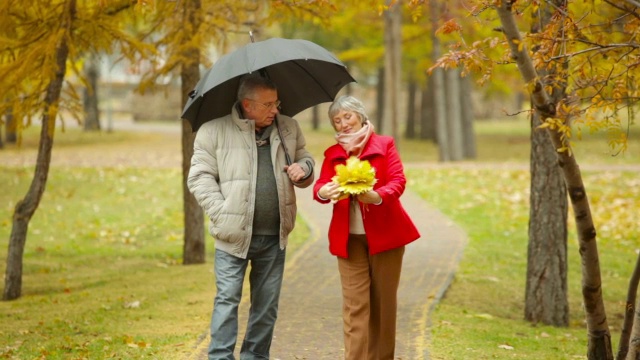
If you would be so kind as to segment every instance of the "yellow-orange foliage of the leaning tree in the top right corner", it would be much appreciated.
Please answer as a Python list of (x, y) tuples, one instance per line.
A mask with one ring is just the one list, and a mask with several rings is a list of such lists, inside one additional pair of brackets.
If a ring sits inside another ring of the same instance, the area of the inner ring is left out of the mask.
[[(539, 89), (538, 84), (542, 85), (556, 102), (552, 105), (565, 105), (564, 108), (556, 106), (558, 117), (563, 117), (565, 122), (570, 119), (586, 124), (594, 131), (606, 129), (610, 144), (624, 150), (626, 139), (622, 136), (621, 119), (633, 121), (634, 112), (626, 109), (633, 109), (640, 102), (640, 89), (636, 85), (640, 78), (637, 66), (640, 19), (633, 13), (633, 7), (617, 7), (603, 1), (568, 2), (566, 8), (541, 1), (512, 3), (511, 11), (519, 21), (522, 40), (512, 40), (511, 44), (493, 42), (492, 46), (480, 46), (483, 41), (477, 38), (471, 45), (460, 41), (451, 45), (450, 52), (441, 56), (429, 71), (436, 66), (463, 66), (469, 73), (479, 74), (478, 82), (482, 85), (495, 82), (494, 64), (512, 64), (528, 55), (541, 79), (527, 83), (530, 93)], [(502, 1), (474, 4), (466, 15), (476, 26), (455, 29), (461, 36), (474, 36), (483, 28), (504, 31), (499, 21), (496, 24), (495, 12), (490, 11), (502, 6)], [(455, 21), (454, 16), (450, 22)], [(514, 34), (509, 34), (512, 36)], [(526, 49), (529, 51), (523, 54)], [(529, 78), (531, 74), (527, 75), (527, 80)], [(625, 116), (618, 114), (625, 111)], [(549, 122), (544, 126), (564, 131), (566, 139), (571, 136), (559, 123)]]

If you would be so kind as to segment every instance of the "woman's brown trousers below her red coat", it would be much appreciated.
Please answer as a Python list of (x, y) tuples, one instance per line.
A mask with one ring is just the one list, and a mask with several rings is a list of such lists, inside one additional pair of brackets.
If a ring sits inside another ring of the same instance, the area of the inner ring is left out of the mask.
[(349, 235), (338, 258), (346, 360), (393, 360), (398, 284), (404, 246), (369, 255), (366, 235)]

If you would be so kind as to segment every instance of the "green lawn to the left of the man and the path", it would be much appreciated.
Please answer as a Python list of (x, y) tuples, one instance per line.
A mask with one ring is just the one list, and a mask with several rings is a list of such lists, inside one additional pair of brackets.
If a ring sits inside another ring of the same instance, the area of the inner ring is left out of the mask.
[[(30, 168), (0, 168), (0, 267)], [(22, 297), (0, 302), (0, 358), (181, 358), (208, 328), (207, 263), (181, 266), (179, 169), (53, 168), (24, 254)], [(290, 251), (309, 236), (303, 225)]]

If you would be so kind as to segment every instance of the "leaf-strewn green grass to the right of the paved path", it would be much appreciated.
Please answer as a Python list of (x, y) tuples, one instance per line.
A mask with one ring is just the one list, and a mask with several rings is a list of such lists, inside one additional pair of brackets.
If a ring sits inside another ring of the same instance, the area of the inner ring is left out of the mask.
[[(409, 170), (410, 187), (451, 217), (469, 237), (458, 273), (431, 319), (434, 359), (584, 359), (587, 334), (580, 256), (569, 235), (570, 327), (523, 321), (527, 259), (525, 170)], [(617, 346), (627, 282), (640, 245), (637, 173), (587, 172), (598, 229), (603, 293)], [(428, 235), (427, 235), (428, 240)], [(512, 350), (500, 346), (513, 347)]]

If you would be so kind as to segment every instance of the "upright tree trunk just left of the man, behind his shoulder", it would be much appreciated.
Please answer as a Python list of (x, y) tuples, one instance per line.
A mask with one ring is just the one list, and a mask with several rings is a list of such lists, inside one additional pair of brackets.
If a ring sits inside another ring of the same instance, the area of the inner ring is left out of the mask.
[[(195, 34), (200, 26), (200, 0), (185, 1), (184, 3), (185, 31)], [(180, 71), (182, 107), (189, 99), (189, 93), (196, 87), (200, 78), (200, 50), (190, 47), (185, 50), (184, 58), (188, 59)], [(184, 247), (182, 263), (202, 264), (206, 261), (204, 212), (195, 197), (187, 187), (187, 177), (193, 156), (193, 141), (195, 133), (187, 120), (182, 120), (182, 200), (184, 207)]]

